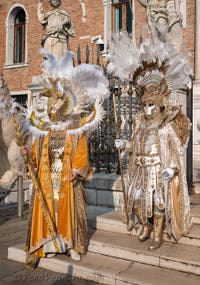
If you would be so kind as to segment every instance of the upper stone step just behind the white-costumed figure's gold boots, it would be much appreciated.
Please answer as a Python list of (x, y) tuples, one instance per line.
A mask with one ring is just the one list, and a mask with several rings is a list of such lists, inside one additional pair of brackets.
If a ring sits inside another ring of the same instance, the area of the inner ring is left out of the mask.
[[(198, 206), (198, 210), (199, 209), (200, 206)], [(132, 236), (138, 236), (141, 231), (141, 228), (138, 228), (137, 230), (133, 229), (131, 232), (127, 232), (127, 226), (122, 223), (119, 211), (110, 211), (96, 217), (93, 216), (92, 226), (98, 230), (129, 234)], [(151, 238), (152, 235), (153, 232), (151, 234)], [(164, 240), (175, 243), (174, 239), (169, 239), (166, 233), (164, 233)], [(179, 244), (200, 247), (200, 225), (194, 223), (190, 233), (187, 236), (181, 237), (178, 242)]]

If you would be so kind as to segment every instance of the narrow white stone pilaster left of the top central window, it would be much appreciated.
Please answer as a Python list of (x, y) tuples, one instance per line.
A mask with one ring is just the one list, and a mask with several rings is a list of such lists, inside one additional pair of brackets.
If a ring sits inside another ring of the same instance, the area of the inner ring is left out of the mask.
[(112, 34), (112, 1), (103, 0), (104, 5), (104, 51), (108, 48), (108, 42), (111, 40)]

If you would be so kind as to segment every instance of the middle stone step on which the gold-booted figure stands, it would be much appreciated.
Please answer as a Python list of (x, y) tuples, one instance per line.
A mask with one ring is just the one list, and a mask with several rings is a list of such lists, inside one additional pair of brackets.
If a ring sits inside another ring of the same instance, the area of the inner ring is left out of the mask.
[(97, 230), (90, 239), (89, 251), (118, 259), (200, 275), (199, 247), (164, 242), (157, 250), (150, 251), (148, 250), (150, 243), (151, 240), (140, 242), (134, 236)]

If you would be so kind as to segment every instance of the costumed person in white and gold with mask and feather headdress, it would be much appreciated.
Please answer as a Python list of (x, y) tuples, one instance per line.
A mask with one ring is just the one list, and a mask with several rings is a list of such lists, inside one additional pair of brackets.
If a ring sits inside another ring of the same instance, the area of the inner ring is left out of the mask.
[[(191, 123), (178, 102), (179, 89), (190, 87), (191, 68), (171, 45), (144, 42), (136, 48), (125, 35), (112, 42), (109, 61), (108, 71), (132, 81), (141, 99), (129, 142), (124, 204), (128, 231), (139, 222), (144, 241), (153, 230), (149, 249), (154, 250), (162, 244), (165, 225), (176, 241), (191, 228), (184, 167)], [(118, 148), (125, 144), (116, 141)]]

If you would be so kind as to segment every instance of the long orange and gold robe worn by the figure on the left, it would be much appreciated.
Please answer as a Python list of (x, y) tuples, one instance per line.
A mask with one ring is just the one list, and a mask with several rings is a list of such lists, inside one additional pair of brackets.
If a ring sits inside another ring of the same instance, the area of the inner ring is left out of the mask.
[[(45, 257), (46, 253), (65, 252), (70, 248), (85, 253), (88, 237), (84, 180), (91, 174), (86, 136), (66, 137), (63, 131), (51, 131), (35, 140), (30, 160), (36, 169), (45, 207), (36, 191), (32, 201), (27, 251), (31, 256), (39, 257)], [(78, 173), (78, 179), (73, 182), (69, 181), (71, 170)], [(53, 229), (52, 233), (49, 227)]]

